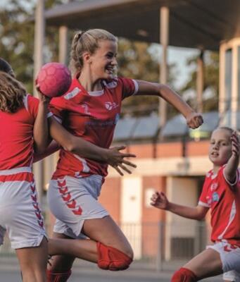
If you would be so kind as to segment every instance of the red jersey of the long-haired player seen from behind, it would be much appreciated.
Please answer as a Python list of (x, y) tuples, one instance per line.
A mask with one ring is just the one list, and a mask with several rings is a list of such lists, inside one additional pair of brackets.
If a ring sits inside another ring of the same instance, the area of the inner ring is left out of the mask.
[(30, 94), (14, 114), (0, 111), (0, 170), (32, 166), (33, 125), (39, 100)]

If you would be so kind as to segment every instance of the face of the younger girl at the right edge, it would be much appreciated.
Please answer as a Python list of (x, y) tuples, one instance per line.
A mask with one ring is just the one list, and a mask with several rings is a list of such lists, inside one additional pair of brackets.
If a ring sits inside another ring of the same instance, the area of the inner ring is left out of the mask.
[(229, 130), (214, 130), (210, 139), (208, 157), (214, 166), (226, 164), (232, 156), (232, 141)]

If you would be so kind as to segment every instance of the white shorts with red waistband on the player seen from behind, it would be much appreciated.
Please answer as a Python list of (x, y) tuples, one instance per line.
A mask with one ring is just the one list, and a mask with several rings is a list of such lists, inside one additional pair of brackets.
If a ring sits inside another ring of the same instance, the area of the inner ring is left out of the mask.
[(37, 247), (46, 233), (33, 175), (17, 173), (4, 176), (1, 172), (0, 245), (4, 243), (7, 232), (13, 249)]

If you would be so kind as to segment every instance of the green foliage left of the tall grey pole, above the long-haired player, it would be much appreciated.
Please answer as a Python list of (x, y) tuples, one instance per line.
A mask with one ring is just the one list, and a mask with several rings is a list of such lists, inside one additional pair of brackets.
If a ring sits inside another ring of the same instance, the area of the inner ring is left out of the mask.
[(27, 18), (30, 12), (18, 0), (10, 0), (0, 11), (1, 57), (9, 61), (27, 90), (32, 85), (33, 25)]

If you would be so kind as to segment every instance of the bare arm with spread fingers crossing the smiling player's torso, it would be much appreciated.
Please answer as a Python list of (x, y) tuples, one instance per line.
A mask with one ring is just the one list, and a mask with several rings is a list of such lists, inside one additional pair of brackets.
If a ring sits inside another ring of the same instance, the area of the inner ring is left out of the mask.
[(101, 148), (81, 137), (76, 137), (70, 134), (53, 116), (49, 118), (49, 123), (51, 137), (53, 137), (53, 139), (65, 150), (87, 159), (94, 159), (95, 161), (102, 161), (110, 164), (110, 166), (113, 166), (121, 176), (123, 175), (121, 169), (127, 171), (127, 173), (132, 173), (125, 165), (136, 167), (131, 161), (125, 159), (128, 157), (136, 157), (134, 154), (120, 152), (122, 149), (125, 149), (125, 146), (113, 147), (110, 149)]

